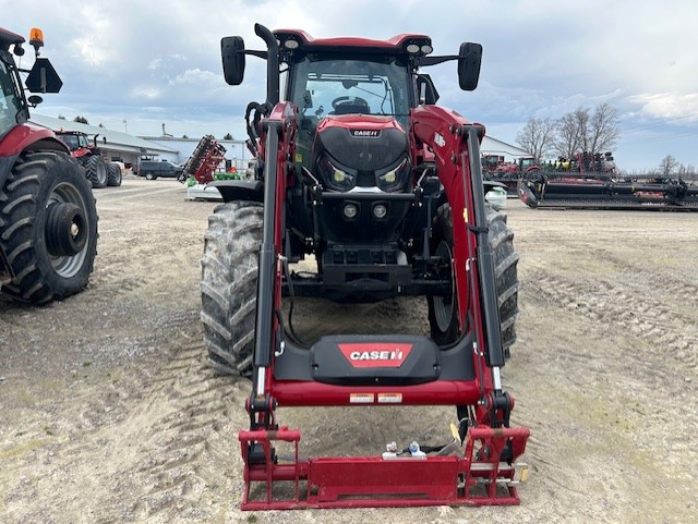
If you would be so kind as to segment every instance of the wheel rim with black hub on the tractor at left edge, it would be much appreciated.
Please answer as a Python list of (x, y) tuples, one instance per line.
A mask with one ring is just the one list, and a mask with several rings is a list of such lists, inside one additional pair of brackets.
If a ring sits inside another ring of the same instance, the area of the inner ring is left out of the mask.
[[(46, 208), (46, 243), (51, 267), (61, 277), (71, 278), (83, 267), (89, 248), (92, 224), (85, 212), (86, 203), (73, 184), (59, 183), (53, 187)], [(59, 212), (62, 218), (58, 218)], [(49, 240), (56, 231), (62, 241)]]

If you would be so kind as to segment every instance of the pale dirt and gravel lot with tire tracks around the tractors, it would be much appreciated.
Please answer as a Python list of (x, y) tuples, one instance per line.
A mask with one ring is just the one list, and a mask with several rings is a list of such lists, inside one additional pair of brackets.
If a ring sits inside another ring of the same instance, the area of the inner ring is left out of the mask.
[[(213, 203), (173, 181), (99, 190), (89, 288), (0, 300), (0, 522), (689, 523), (698, 516), (698, 214), (509, 200), (519, 339), (503, 370), (531, 428), (517, 508), (242, 513), (250, 385), (206, 365), (200, 257)], [(348, 320), (351, 312), (356, 320)], [(421, 302), (315, 307), (305, 328), (423, 329)], [(316, 453), (440, 442), (452, 410), (296, 410)]]

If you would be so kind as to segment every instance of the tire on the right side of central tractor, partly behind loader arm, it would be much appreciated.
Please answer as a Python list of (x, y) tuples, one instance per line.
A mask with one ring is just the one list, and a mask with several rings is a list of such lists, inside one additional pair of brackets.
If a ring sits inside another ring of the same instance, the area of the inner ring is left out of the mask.
[[(509, 356), (516, 341), (516, 318), (518, 316), (518, 255), (514, 251), (514, 232), (506, 226), (506, 214), (486, 206), (486, 219), (490, 247), (494, 258), (500, 321), (502, 327), (502, 346), (504, 355)], [(433, 228), (433, 248), (443, 256), (453, 253), (453, 212), (448, 204), (438, 208)], [(441, 246), (441, 247), (440, 247)], [(432, 339), (440, 345), (449, 345), (460, 336), (457, 298), (430, 297), (429, 324)]]

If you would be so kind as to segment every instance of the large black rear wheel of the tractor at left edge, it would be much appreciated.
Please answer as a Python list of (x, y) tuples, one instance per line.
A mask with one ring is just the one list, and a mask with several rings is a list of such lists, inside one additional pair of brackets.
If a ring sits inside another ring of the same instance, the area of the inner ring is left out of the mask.
[(77, 161), (21, 155), (0, 192), (0, 244), (14, 275), (2, 293), (46, 304), (83, 290), (97, 255), (97, 208)]

